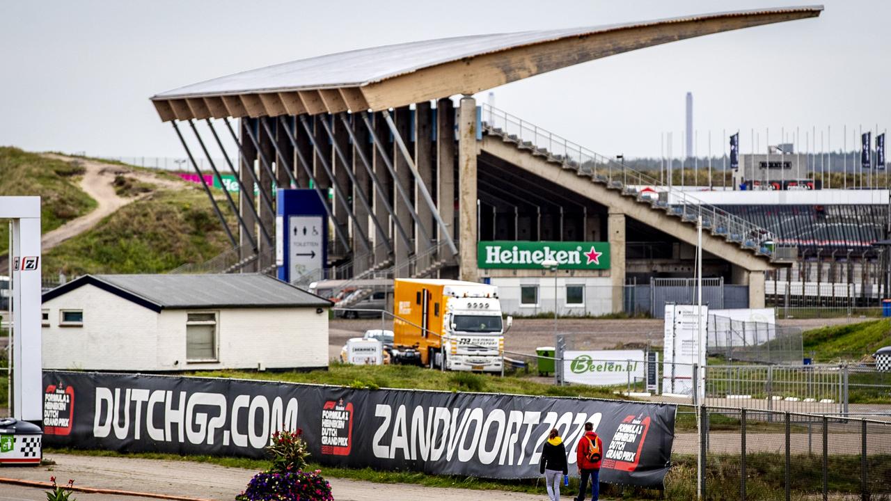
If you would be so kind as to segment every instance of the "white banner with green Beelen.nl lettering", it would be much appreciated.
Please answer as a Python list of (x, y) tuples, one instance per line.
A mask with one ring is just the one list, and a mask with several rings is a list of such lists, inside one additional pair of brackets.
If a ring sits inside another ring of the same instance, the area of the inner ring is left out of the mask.
[(566, 382), (593, 386), (615, 386), (643, 380), (642, 349), (601, 349), (564, 351), (563, 375)]

